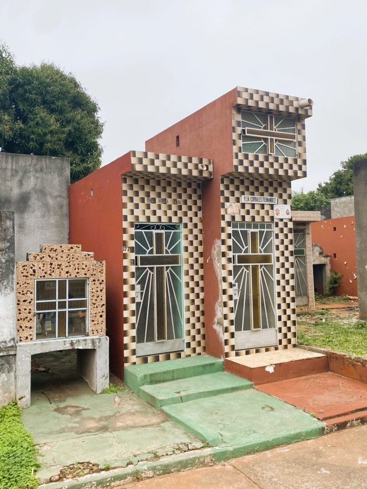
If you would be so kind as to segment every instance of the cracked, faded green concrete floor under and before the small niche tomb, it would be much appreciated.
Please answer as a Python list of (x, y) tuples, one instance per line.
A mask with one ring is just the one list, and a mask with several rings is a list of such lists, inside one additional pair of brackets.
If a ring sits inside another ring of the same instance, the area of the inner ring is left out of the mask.
[(22, 420), (39, 450), (41, 481), (77, 462), (126, 467), (203, 446), (130, 391), (96, 396), (76, 374), (72, 353), (37, 362), (54, 373), (32, 374), (31, 406)]

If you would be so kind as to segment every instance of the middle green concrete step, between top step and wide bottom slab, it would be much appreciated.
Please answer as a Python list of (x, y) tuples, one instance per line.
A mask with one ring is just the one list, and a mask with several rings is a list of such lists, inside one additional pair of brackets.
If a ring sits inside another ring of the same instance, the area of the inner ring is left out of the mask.
[(168, 404), (216, 396), (226, 392), (251, 389), (252, 382), (227, 372), (180, 378), (160, 384), (143, 385), (138, 395), (157, 409)]

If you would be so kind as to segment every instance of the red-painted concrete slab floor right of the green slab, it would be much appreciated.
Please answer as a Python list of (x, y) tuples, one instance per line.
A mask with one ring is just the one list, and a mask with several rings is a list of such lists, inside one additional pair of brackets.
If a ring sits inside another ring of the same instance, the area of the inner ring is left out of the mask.
[(271, 382), (257, 389), (321, 421), (367, 409), (367, 384), (331, 372)]

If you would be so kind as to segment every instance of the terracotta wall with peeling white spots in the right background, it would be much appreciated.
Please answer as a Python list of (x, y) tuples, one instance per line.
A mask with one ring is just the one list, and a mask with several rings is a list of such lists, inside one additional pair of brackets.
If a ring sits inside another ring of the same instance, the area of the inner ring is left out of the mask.
[(331, 270), (343, 274), (336, 294), (357, 296), (354, 216), (313, 222), (311, 237), (313, 244), (320, 244), (324, 253), (331, 255)]

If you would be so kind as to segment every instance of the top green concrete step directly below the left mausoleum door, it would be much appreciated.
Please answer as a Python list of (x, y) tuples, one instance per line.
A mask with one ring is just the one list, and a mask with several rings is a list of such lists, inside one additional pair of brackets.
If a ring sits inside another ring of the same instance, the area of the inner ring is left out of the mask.
[(209, 355), (189, 356), (176, 360), (129, 365), (124, 369), (125, 384), (136, 394), (139, 387), (181, 378), (223, 372), (223, 360)]

